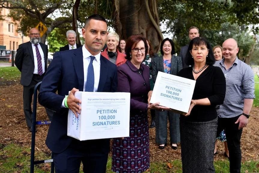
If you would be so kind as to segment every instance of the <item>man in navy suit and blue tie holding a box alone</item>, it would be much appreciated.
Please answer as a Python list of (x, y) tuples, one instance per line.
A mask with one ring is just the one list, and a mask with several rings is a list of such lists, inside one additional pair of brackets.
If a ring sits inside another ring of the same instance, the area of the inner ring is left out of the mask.
[(78, 49), (56, 52), (42, 81), (39, 103), (55, 111), (46, 144), (53, 152), (56, 173), (78, 173), (81, 161), (84, 172), (106, 171), (110, 140), (79, 141), (67, 136), (67, 118), (69, 109), (75, 115), (80, 113), (81, 100), (74, 93), (87, 91), (85, 88), (93, 83), (88, 73), (94, 73), (93, 92), (117, 90), (117, 67), (101, 55), (107, 33), (104, 17), (98, 14), (88, 17), (82, 29), (85, 44)]

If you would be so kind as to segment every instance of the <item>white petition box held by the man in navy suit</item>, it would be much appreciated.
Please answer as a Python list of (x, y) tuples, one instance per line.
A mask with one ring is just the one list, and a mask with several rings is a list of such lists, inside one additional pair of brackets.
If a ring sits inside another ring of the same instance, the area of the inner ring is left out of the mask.
[(80, 141), (128, 137), (130, 134), (130, 93), (75, 92), (81, 100), (76, 118), (69, 110), (67, 135)]

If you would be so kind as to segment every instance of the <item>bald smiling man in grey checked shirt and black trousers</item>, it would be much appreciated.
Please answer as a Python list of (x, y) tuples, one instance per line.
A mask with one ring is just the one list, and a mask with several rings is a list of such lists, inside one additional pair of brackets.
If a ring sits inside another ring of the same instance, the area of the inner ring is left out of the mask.
[(234, 39), (227, 39), (222, 44), (223, 59), (216, 61), (226, 78), (226, 96), (218, 112), (217, 136), (224, 129), (229, 149), (230, 173), (240, 172), (242, 129), (248, 123), (249, 113), (254, 101), (254, 73), (250, 66), (239, 60), (239, 51)]

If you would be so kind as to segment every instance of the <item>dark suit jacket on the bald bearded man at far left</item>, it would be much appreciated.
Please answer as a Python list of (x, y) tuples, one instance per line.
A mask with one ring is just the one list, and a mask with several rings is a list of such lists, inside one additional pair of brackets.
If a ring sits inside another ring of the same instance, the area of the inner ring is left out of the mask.
[[(45, 71), (46, 71), (48, 47), (43, 43), (40, 43), (40, 45), (44, 53)], [(21, 84), (23, 86), (29, 86), (32, 81), (32, 76), (34, 71), (34, 57), (33, 57), (31, 42), (26, 42), (19, 45), (14, 63), (21, 72)]]

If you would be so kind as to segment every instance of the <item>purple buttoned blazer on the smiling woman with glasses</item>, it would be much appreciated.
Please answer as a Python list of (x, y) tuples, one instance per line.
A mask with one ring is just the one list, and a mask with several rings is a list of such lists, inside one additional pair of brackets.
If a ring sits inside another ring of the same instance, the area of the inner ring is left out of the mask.
[(130, 92), (130, 114), (145, 113), (148, 107), (149, 68), (140, 64), (137, 69), (130, 60), (117, 67), (117, 92)]

